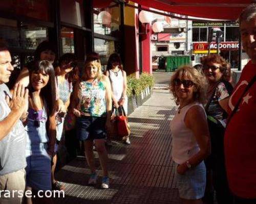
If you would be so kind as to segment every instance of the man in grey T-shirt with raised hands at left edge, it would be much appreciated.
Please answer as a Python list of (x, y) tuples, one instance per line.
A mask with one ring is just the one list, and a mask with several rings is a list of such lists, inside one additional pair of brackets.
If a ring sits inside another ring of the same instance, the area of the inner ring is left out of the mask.
[(0, 203), (21, 203), (25, 191), (26, 131), (20, 118), (26, 117), (28, 90), (9, 82), (13, 66), (7, 46), (0, 42)]

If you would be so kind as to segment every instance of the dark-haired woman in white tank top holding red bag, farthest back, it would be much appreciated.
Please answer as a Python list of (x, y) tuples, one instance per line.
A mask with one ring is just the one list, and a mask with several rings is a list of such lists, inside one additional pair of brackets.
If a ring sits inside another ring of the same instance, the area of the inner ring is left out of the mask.
[[(122, 62), (118, 54), (113, 53), (108, 61), (106, 76), (109, 77), (112, 87), (113, 106), (123, 106), (127, 114), (128, 98), (126, 96), (126, 72), (123, 70)], [(123, 138), (125, 144), (131, 144), (129, 136)]]

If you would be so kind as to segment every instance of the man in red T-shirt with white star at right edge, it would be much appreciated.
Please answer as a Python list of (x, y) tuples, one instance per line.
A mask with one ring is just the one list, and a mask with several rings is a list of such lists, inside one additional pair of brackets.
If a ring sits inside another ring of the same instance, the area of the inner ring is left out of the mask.
[(233, 93), (221, 101), (229, 113), (224, 149), (229, 188), (236, 196), (235, 203), (255, 204), (256, 82), (248, 84), (256, 75), (256, 4), (241, 13), (239, 22), (242, 45), (251, 60), (244, 67)]

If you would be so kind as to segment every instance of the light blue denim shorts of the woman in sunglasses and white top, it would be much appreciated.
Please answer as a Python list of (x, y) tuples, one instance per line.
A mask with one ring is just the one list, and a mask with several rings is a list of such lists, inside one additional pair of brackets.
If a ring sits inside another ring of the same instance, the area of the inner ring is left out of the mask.
[(202, 161), (181, 175), (177, 172), (178, 164), (175, 163), (175, 179), (179, 195), (183, 199), (200, 199), (204, 196), (206, 185), (206, 168)]

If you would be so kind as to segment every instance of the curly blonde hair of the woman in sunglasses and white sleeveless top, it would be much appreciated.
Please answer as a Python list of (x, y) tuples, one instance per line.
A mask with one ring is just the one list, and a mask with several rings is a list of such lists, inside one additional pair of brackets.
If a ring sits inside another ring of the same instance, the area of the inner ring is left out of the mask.
[(179, 98), (175, 92), (175, 80), (186, 79), (191, 80), (194, 83), (194, 100), (198, 103), (205, 104), (207, 101), (206, 93), (208, 89), (208, 83), (203, 73), (191, 66), (183, 66), (177, 69), (170, 79), (170, 91), (172, 92), (175, 103), (180, 104)]

